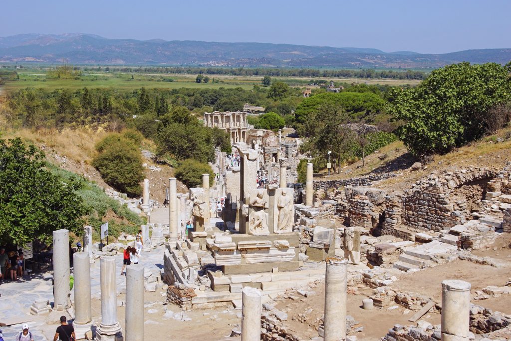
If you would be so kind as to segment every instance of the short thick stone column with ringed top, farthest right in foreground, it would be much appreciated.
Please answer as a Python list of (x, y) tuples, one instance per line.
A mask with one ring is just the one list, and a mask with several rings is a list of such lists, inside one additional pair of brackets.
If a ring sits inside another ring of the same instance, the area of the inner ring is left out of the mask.
[(470, 283), (442, 282), (442, 341), (468, 341), (470, 323)]

